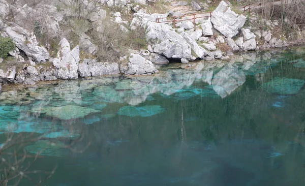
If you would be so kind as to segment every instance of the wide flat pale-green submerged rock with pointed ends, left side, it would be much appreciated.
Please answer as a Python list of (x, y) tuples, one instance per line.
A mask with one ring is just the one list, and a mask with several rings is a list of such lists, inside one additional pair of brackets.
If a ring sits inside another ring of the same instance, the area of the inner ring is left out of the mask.
[(63, 107), (46, 107), (40, 110), (32, 109), (31, 112), (45, 113), (48, 116), (63, 120), (83, 118), (86, 115), (100, 112), (99, 110), (80, 107), (76, 105), (66, 105)]

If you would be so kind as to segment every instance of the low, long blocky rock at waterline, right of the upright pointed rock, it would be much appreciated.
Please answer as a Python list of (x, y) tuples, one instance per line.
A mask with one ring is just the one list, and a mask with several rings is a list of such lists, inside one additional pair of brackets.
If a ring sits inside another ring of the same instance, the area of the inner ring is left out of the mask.
[(96, 59), (84, 59), (83, 62), (79, 64), (78, 69), (81, 77), (120, 73), (117, 63), (102, 63), (97, 62)]

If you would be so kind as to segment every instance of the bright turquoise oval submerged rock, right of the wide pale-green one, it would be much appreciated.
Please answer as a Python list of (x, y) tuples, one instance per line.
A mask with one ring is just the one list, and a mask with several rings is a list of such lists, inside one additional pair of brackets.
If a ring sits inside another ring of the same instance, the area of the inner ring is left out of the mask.
[(149, 105), (143, 107), (126, 106), (122, 107), (117, 111), (118, 115), (126, 115), (130, 117), (148, 117), (156, 114), (160, 114), (165, 111), (160, 105)]

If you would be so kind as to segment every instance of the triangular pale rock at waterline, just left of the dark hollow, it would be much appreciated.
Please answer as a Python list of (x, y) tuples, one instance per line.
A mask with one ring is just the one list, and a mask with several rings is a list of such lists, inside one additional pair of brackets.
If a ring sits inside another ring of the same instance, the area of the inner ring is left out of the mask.
[(130, 54), (128, 70), (125, 72), (126, 75), (148, 75), (157, 72), (158, 70), (151, 61), (146, 60), (139, 54)]

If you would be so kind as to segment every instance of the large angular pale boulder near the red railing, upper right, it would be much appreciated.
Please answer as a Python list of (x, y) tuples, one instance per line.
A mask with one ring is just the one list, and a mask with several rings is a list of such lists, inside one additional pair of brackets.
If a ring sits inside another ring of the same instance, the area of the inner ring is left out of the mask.
[(211, 22), (220, 33), (227, 38), (238, 34), (238, 30), (245, 24), (246, 17), (233, 12), (230, 5), (224, 1), (212, 12)]

